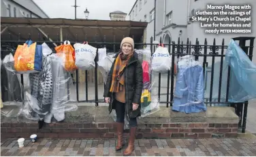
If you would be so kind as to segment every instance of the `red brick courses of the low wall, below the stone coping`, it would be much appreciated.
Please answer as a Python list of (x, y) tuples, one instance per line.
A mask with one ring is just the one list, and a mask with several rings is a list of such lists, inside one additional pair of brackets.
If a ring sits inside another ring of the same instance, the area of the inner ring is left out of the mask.
[[(210, 138), (236, 137), (238, 124), (168, 123), (140, 124), (137, 138)], [(37, 123), (1, 122), (1, 138), (29, 138), (31, 134), (46, 138), (114, 138), (115, 125), (108, 123), (52, 123), (38, 129)], [(125, 137), (129, 131), (125, 131)]]

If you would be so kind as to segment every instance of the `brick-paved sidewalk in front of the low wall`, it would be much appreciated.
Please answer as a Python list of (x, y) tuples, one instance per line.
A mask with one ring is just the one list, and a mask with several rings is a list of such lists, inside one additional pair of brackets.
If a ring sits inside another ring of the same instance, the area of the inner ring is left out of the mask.
[[(122, 156), (114, 139), (17, 139), (1, 141), (1, 156)], [(133, 156), (256, 156), (256, 138), (138, 139)]]

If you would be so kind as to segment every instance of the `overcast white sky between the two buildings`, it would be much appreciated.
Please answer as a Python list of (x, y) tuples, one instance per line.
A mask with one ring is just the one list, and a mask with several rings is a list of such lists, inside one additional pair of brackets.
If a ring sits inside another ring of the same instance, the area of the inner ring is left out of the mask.
[[(75, 0), (33, 0), (50, 18), (75, 18)], [(76, 18), (84, 18), (84, 10), (90, 12), (89, 19), (110, 20), (110, 12), (121, 11), (127, 15), (135, 0), (76, 0)]]

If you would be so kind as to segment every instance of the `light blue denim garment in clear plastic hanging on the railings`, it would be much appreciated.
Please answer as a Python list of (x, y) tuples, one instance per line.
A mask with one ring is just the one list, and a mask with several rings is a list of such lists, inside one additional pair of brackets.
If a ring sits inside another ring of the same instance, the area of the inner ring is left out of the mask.
[(206, 111), (203, 68), (194, 60), (182, 62), (178, 65), (172, 110), (187, 114)]

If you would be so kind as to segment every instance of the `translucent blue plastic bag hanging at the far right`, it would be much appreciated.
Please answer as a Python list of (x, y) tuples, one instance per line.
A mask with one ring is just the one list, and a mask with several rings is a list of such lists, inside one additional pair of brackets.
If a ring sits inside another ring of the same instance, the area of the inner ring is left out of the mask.
[(225, 62), (230, 66), (229, 102), (246, 102), (256, 97), (256, 65), (233, 40), (227, 47)]

